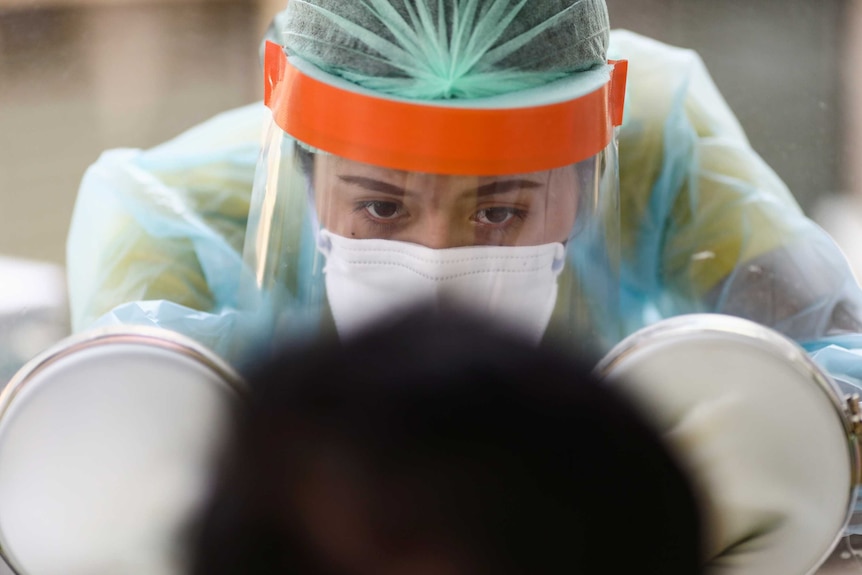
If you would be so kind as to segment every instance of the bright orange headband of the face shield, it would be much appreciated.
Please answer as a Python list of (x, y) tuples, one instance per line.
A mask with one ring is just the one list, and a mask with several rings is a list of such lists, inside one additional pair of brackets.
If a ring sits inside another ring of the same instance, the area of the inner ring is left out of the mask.
[(591, 158), (622, 124), (628, 62), (611, 79), (566, 102), (474, 109), (351, 92), (312, 78), (267, 42), (264, 103), (297, 140), (357, 162), (450, 175), (549, 170)]

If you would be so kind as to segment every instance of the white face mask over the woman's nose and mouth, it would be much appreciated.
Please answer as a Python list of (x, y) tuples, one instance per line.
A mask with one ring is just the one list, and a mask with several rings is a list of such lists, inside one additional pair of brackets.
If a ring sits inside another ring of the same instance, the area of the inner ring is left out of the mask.
[(341, 337), (419, 304), (486, 314), (538, 343), (557, 300), (561, 243), (431, 249), (321, 230), (326, 295)]

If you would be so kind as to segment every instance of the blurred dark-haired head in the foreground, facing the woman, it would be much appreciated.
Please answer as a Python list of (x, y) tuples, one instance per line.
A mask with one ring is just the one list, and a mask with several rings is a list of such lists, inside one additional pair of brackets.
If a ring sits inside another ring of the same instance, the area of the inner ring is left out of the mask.
[(292, 350), (252, 385), (196, 575), (700, 572), (663, 444), (552, 351), (415, 314)]

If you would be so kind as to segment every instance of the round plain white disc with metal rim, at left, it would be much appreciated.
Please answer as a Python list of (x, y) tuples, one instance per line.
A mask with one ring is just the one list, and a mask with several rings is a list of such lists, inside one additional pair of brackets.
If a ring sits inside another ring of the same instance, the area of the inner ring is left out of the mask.
[(240, 378), (152, 328), (69, 338), (0, 395), (0, 548), (19, 575), (181, 573)]

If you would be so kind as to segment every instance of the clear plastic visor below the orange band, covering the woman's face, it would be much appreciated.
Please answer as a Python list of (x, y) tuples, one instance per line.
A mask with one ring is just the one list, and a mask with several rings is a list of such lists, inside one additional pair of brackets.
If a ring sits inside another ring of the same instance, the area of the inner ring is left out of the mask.
[(602, 351), (620, 336), (617, 181), (615, 142), (548, 170), (447, 175), (315, 150), (273, 122), (242, 300), (288, 337), (425, 305)]

